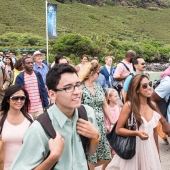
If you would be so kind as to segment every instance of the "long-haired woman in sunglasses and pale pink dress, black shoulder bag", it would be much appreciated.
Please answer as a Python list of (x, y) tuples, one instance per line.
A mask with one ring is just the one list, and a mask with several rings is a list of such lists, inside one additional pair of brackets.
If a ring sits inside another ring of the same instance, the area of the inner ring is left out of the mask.
[[(151, 102), (152, 83), (146, 75), (132, 78), (127, 96), (116, 126), (121, 136), (136, 136), (136, 154), (132, 159), (124, 160), (115, 155), (109, 164), (109, 170), (161, 170), (156, 127), (160, 119), (157, 106)], [(133, 113), (136, 130), (125, 128)]]

